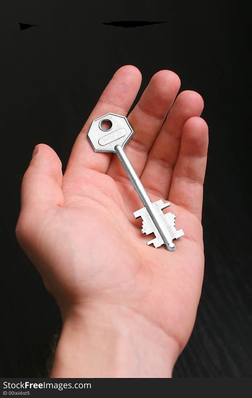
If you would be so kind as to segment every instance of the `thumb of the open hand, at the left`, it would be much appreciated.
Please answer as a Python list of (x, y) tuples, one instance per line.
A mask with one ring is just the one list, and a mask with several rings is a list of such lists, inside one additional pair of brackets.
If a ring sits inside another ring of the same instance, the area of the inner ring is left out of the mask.
[(39, 144), (33, 151), (21, 186), (21, 212), (16, 228), (18, 240), (27, 239), (41, 216), (50, 208), (63, 207), (61, 161), (50, 146)]

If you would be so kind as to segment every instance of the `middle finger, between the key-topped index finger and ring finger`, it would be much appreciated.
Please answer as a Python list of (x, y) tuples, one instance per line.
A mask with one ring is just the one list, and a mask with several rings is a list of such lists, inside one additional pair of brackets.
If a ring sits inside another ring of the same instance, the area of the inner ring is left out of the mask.
[[(180, 88), (180, 78), (170, 70), (160, 70), (150, 80), (139, 102), (128, 116), (135, 134), (125, 147), (135, 171), (141, 176), (148, 152)], [(123, 181), (127, 175), (117, 156), (112, 156), (107, 174)], [(127, 178), (128, 179), (128, 178)]]

